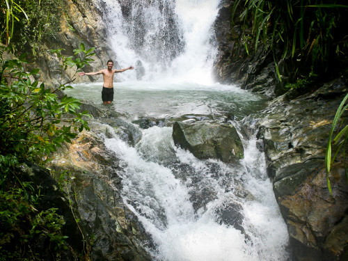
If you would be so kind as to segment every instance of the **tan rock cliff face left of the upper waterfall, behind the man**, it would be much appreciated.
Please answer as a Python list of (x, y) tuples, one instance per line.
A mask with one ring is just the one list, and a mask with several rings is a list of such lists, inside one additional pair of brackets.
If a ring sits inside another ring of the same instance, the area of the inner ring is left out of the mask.
[[(106, 40), (106, 24), (98, 6), (98, 1), (73, 1), (65, 0), (65, 13), (61, 18), (61, 31), (55, 36), (54, 41), (49, 43), (49, 49), (65, 49), (62, 54), (72, 56), (73, 50), (78, 49), (80, 43), (84, 43), (86, 49), (95, 47), (95, 60), (90, 67), (84, 68), (86, 72), (106, 68), (106, 61), (114, 58), (115, 54), (110, 49)], [(35, 66), (40, 68), (40, 80), (46, 83), (58, 84), (60, 73), (58, 65), (61, 63), (56, 54), (41, 52)], [(71, 79), (76, 68), (68, 68), (63, 75), (64, 79)], [(76, 77), (74, 83), (86, 81), (86, 77)], [(98, 80), (90, 77), (90, 81)]]

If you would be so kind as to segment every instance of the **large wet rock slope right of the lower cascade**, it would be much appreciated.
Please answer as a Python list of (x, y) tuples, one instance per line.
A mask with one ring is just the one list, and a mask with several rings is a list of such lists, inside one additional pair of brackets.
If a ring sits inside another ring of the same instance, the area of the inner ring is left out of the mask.
[(332, 166), (333, 196), (324, 168), (333, 116), (348, 91), (347, 83), (347, 77), (340, 77), (292, 101), (283, 95), (257, 116), (260, 147), (296, 261), (347, 260), (345, 166), (340, 157)]

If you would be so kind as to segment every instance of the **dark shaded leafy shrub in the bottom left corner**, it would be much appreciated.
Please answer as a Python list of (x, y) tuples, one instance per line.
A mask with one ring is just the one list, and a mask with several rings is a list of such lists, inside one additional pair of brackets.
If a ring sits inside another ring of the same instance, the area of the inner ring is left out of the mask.
[(35, 201), (39, 196), (31, 195), (28, 182), (22, 186), (0, 190), (0, 260), (41, 260), (34, 249), (42, 238), (47, 238), (47, 248), (59, 258), (67, 248), (67, 237), (61, 232), (63, 217), (56, 214), (56, 208), (38, 211)]

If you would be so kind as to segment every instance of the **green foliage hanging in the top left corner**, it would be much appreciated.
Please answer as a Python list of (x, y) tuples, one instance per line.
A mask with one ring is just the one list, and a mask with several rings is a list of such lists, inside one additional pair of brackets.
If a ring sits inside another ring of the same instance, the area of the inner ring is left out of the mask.
[(63, 0), (0, 1), (0, 42), (13, 52), (35, 55), (59, 31), (63, 6)]

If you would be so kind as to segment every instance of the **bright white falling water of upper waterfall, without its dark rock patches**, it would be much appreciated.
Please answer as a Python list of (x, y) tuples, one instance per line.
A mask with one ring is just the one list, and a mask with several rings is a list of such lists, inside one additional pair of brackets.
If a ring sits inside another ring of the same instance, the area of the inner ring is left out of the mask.
[[(161, 13), (161, 1), (153, 1), (151, 6), (142, 3), (137, 6), (138, 3), (132, 3), (134, 10), (129, 14), (133, 16), (131, 25), (122, 17), (122, 10), (117, 1), (100, 1), (106, 5), (105, 19), (107, 22), (105, 24), (109, 32), (109, 42), (117, 54), (117, 61), (121, 67), (135, 65), (136, 61), (142, 61), (145, 68), (145, 80), (162, 79), (166, 82), (214, 83), (211, 70), (216, 56), (216, 45), (212, 44), (212, 34), (214, 33), (212, 24), (218, 12), (217, 6), (220, 0), (164, 1), (163, 5), (172, 6), (173, 10), (171, 11), (175, 13), (173, 15), (173, 18), (176, 19), (175, 24), (183, 35), (184, 49), (176, 58), (168, 57), (166, 53), (170, 53), (170, 49), (161, 50), (161, 54), (159, 54), (159, 50), (153, 47), (155, 43), (152, 40), (155, 35), (161, 35), (161, 31), (168, 30), (169, 24), (167, 23), (170, 23)], [(146, 37), (142, 47), (134, 47), (130, 39), (136, 37), (133, 35), (135, 28), (132, 29), (132, 26), (139, 26), (137, 24), (139, 13), (136, 12), (136, 9), (140, 6), (145, 13), (141, 19), (143, 22), (142, 30)], [(165, 45), (166, 42), (163, 42), (161, 48)], [(168, 48), (173, 47), (169, 44)], [(135, 73), (120, 74), (117, 77), (120, 81), (136, 79)]]

